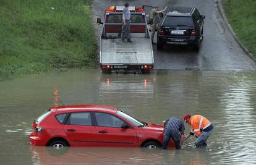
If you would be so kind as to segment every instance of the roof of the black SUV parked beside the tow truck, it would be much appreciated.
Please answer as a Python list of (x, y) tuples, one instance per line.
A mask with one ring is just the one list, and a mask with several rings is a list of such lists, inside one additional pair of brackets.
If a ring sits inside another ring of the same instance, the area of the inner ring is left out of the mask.
[(195, 7), (169, 7), (166, 15), (170, 16), (191, 16)]

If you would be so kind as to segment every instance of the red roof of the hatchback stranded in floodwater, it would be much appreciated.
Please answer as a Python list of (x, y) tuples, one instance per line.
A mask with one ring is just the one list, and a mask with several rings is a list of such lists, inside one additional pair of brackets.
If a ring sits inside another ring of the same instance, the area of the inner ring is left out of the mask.
[(52, 112), (77, 112), (77, 111), (102, 111), (102, 112), (116, 112), (117, 108), (113, 106), (105, 106), (100, 104), (79, 104), (69, 106), (53, 106), (50, 108)]

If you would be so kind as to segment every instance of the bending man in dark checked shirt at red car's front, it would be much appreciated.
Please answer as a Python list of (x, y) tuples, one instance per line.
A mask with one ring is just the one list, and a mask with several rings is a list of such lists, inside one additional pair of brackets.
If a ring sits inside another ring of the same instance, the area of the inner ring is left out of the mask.
[(171, 138), (175, 142), (175, 148), (181, 149), (184, 140), (184, 123), (177, 117), (171, 117), (163, 121), (163, 127), (163, 149), (167, 149), (168, 143), (171, 140)]

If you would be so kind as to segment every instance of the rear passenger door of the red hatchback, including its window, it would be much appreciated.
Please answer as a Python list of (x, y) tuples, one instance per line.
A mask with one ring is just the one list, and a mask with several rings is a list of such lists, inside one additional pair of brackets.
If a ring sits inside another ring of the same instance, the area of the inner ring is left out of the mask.
[(90, 112), (72, 112), (64, 126), (71, 146), (96, 146), (96, 127)]

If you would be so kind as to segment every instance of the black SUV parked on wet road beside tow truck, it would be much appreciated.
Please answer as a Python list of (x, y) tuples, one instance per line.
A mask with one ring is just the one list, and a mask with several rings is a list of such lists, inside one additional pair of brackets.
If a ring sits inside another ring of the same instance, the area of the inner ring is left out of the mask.
[(168, 7), (158, 26), (157, 49), (164, 44), (189, 44), (195, 51), (203, 39), (203, 19), (195, 7)]

